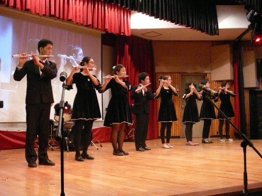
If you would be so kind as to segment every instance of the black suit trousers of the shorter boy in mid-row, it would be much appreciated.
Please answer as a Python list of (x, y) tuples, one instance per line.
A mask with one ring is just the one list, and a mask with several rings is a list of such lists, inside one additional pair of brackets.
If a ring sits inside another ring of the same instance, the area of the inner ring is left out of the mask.
[(136, 149), (145, 148), (145, 140), (148, 132), (149, 114), (145, 111), (141, 114), (136, 114)]

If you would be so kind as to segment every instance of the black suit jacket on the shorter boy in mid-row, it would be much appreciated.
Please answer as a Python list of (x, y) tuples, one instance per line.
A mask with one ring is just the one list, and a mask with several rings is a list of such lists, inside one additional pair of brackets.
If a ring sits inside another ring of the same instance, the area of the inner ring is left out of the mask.
[(149, 114), (149, 100), (154, 100), (154, 95), (150, 88), (146, 88), (147, 92), (144, 93), (141, 90), (140, 93), (136, 92), (138, 86), (134, 86), (130, 98), (134, 101), (133, 113), (141, 114), (144, 111)]

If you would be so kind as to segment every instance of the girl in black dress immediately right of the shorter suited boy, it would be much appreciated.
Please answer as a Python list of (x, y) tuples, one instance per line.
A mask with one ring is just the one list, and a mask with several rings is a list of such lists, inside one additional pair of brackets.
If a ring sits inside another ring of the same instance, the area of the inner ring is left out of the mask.
[[(155, 93), (154, 98), (159, 99), (161, 97), (161, 103), (158, 113), (158, 122), (161, 122), (160, 136), (162, 141), (162, 148), (169, 149), (169, 148), (173, 148), (173, 146), (169, 144), (172, 122), (178, 121), (172, 96), (173, 95), (178, 96), (179, 90), (171, 85), (172, 80), (170, 76), (167, 75), (160, 76), (159, 80), (160, 80), (160, 85), (157, 89), (157, 92)], [(165, 142), (165, 129), (166, 129), (166, 142)]]

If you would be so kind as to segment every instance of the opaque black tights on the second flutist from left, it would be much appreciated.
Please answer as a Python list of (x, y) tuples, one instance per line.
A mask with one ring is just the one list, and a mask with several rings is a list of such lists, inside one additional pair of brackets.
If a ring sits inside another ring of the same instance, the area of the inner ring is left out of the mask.
[[(75, 125), (73, 127), (74, 131), (74, 145), (76, 156), (80, 157), (80, 142), (81, 142), (81, 133), (83, 130), (83, 155), (88, 155), (88, 147), (91, 143), (92, 138), (92, 127), (94, 120), (75, 120)], [(84, 129), (83, 129), (84, 127)]]

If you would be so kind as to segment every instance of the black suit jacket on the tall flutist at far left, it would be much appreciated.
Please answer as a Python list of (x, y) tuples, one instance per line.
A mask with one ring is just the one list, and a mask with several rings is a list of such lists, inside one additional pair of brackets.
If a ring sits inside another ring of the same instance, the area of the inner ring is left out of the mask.
[(14, 80), (20, 81), (27, 75), (27, 95), (26, 104), (51, 104), (54, 103), (51, 80), (57, 75), (56, 64), (46, 61), (45, 66), (41, 69), (34, 64), (34, 60), (27, 61), (24, 66), (14, 71)]

